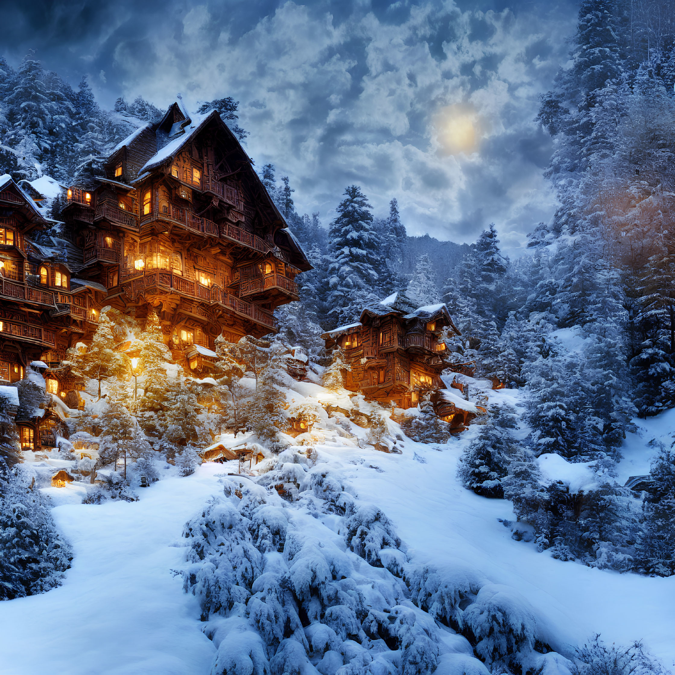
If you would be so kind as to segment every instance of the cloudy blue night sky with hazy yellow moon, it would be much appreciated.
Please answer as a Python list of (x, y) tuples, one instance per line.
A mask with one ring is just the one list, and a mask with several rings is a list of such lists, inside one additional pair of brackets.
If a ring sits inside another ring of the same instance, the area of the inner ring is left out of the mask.
[(471, 242), (494, 222), (518, 255), (556, 202), (539, 94), (567, 61), (571, 0), (32, 0), (5, 4), (3, 51), (35, 49), (104, 107), (232, 96), (257, 167), (288, 174), (325, 224), (348, 184), (408, 234)]

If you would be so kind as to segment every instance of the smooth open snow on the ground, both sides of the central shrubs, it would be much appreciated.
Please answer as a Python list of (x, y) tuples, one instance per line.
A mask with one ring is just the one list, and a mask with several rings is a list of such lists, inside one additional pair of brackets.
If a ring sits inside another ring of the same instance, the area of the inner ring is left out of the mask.
[[(291, 396), (333, 397), (317, 385), (298, 383)], [(516, 392), (491, 392), (491, 402), (518, 404)], [(672, 441), (675, 410), (637, 421), (639, 433), (624, 443), (620, 480), (649, 470), (651, 439)], [(377, 504), (394, 522), (412, 562), (441, 570), (470, 570), (512, 587), (537, 610), (550, 643), (560, 651), (595, 632), (607, 643), (643, 640), (668, 668), (675, 662), (675, 578), (647, 578), (553, 560), (534, 545), (514, 541), (502, 520), (513, 520), (509, 502), (464, 489), (456, 463), (476, 433), (446, 445), (406, 440), (402, 454), (377, 452), (361, 439), (329, 431), (317, 437), (319, 459), (353, 488), (358, 502)], [(590, 472), (548, 460), (551, 477), (583, 485)], [(140, 501), (80, 504), (84, 487), (48, 488), (57, 524), (72, 544), (74, 560), (63, 585), (45, 595), (0, 603), (0, 673), (89, 675), (206, 675), (215, 647), (199, 621), (198, 603), (182, 591), (171, 570), (184, 566), (182, 529), (236, 462), (203, 464), (186, 478), (167, 477), (140, 489)], [(169, 470), (167, 470), (169, 474)]]

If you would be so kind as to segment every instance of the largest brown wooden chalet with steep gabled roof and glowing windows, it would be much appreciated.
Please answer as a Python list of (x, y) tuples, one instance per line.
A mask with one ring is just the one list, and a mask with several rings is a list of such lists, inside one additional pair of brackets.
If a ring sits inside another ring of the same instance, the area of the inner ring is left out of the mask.
[(140, 319), (155, 308), (182, 350), (276, 330), (273, 310), (298, 299), (311, 265), (217, 112), (192, 119), (174, 103), (104, 169), (68, 190), (63, 217), (107, 304)]

